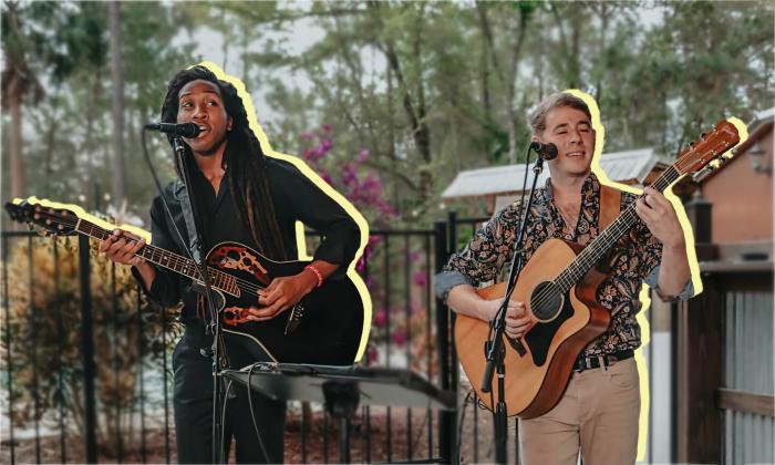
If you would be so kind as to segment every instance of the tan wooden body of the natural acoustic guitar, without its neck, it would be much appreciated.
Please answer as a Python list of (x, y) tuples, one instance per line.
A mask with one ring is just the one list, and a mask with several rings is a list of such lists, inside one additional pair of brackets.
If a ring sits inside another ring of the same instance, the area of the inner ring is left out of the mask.
[[(525, 302), (535, 316), (534, 306), (540, 297), (541, 285), (554, 280), (582, 250), (582, 246), (560, 239), (549, 239), (533, 255), (519, 275), (512, 300)], [(506, 347), (505, 400), (508, 415), (534, 418), (559, 402), (577, 356), (610, 323), (609, 312), (596, 301), (596, 292), (604, 275), (592, 270), (558, 302), (558, 312), (549, 321), (537, 322), (521, 339), (526, 353), (520, 355), (513, 341), (504, 335)], [(484, 288), (477, 293), (486, 300), (505, 296), (505, 283)], [(531, 301), (533, 300), (533, 301)], [(458, 314), (455, 321), (457, 356), (479, 399), (492, 410), (489, 394), (482, 392), (485, 371), (485, 343), (489, 324), (476, 318)], [(498, 399), (498, 383), (493, 381)]]

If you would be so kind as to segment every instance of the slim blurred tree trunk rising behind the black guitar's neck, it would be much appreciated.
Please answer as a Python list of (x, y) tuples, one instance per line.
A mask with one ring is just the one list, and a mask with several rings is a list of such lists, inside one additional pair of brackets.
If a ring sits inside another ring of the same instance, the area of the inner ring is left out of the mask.
[(126, 198), (126, 172), (124, 168), (124, 70), (121, 55), (121, 4), (112, 1), (108, 6), (111, 28), (111, 81), (113, 83), (113, 205), (121, 208)]

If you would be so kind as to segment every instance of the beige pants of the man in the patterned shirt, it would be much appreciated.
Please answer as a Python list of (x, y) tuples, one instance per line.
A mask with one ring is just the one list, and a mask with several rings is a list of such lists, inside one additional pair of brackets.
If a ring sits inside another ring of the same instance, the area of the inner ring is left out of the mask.
[(519, 421), (524, 465), (633, 464), (638, 454), (640, 382), (634, 359), (574, 372), (548, 413)]

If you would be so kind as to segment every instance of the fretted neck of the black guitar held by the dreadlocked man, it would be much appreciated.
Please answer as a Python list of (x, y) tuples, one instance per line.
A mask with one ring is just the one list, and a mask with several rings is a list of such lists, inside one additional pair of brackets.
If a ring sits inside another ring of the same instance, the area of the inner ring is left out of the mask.
[[(108, 231), (107, 229), (83, 218), (79, 219), (75, 230), (99, 241), (107, 239), (113, 234), (112, 231)], [(202, 282), (199, 267), (190, 258), (182, 257), (177, 254), (170, 252), (169, 250), (165, 250), (149, 244), (140, 249), (136, 256), (164, 269), (190, 278), (194, 281)], [(210, 285), (214, 288), (231, 294), (236, 292), (237, 282), (232, 276), (211, 267), (207, 267), (207, 270), (211, 278)]]

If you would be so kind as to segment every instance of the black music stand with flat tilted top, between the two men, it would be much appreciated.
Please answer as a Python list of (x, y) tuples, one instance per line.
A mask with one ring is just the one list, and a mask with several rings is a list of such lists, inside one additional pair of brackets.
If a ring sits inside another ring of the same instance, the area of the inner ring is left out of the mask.
[(440, 410), (454, 410), (457, 404), (454, 392), (442, 391), (410, 370), (258, 362), (219, 374), (245, 386), (250, 378), (252, 390), (275, 401), (326, 404), (340, 421), (342, 463), (350, 463), (350, 420), (360, 403)]

